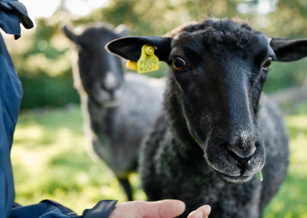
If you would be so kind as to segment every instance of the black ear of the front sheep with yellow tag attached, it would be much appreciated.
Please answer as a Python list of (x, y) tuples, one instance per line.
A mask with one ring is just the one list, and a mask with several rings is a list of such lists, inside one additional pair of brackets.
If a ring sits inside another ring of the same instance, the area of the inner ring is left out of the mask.
[(131, 36), (115, 39), (106, 45), (109, 52), (127, 60), (138, 61), (144, 44), (155, 48), (155, 55), (161, 61), (167, 61), (171, 51), (171, 39), (158, 36)]

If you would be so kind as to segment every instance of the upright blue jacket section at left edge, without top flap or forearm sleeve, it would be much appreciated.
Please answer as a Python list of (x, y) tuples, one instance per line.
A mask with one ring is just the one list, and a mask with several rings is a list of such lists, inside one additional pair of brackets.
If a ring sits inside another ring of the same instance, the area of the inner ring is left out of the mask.
[(0, 35), (0, 214), (4, 217), (15, 198), (10, 150), (21, 96), (21, 83)]

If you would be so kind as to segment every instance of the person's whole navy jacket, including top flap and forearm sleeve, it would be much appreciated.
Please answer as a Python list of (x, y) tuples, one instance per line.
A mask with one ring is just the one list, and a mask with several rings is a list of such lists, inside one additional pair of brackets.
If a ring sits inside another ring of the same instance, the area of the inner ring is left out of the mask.
[[(27, 29), (33, 27), (25, 6), (18, 0), (0, 0), (0, 28), (18, 39), (20, 38), (20, 23)], [(0, 218), (109, 217), (117, 201), (100, 201), (94, 208), (84, 210), (81, 216), (50, 200), (29, 206), (14, 203), (15, 192), (10, 150), (21, 97), (21, 82), (0, 34)]]

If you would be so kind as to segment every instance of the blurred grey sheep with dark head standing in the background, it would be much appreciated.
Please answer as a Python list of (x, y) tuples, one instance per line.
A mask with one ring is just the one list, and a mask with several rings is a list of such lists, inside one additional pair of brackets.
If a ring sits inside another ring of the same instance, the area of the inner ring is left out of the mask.
[(107, 42), (126, 35), (122, 27), (100, 24), (80, 35), (66, 26), (64, 31), (79, 48), (73, 76), (90, 154), (107, 163), (132, 200), (128, 175), (136, 171), (140, 142), (162, 108), (165, 82), (124, 73), (121, 59), (105, 50)]

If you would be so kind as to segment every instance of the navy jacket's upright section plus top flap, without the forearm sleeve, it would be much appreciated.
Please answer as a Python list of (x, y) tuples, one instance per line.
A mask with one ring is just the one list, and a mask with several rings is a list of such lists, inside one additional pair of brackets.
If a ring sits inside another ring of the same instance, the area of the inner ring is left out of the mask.
[[(20, 37), (20, 22), (28, 23), (26, 9), (20, 2), (0, 0), (0, 28)], [(19, 5), (19, 6), (18, 6)], [(23, 15), (21, 15), (23, 14)], [(32, 22), (32, 21), (31, 21)], [(32, 23), (33, 26), (33, 23)], [(15, 193), (10, 150), (22, 97), (21, 83), (0, 34), (0, 216), (8, 217)]]

